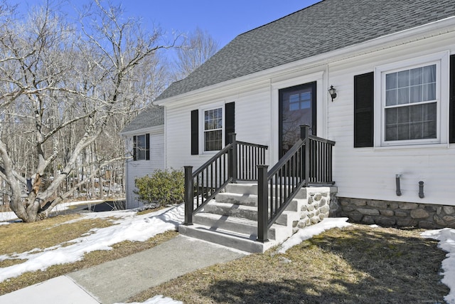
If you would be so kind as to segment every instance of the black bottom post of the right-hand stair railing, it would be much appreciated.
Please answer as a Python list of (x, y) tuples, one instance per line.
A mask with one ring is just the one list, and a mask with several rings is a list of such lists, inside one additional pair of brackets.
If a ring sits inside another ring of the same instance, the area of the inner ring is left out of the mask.
[(267, 164), (257, 165), (257, 241), (269, 241), (269, 188), (267, 187)]

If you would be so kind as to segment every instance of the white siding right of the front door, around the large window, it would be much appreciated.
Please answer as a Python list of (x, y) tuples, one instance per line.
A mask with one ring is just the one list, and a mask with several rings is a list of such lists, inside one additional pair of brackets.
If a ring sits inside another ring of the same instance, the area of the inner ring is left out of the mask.
[[(425, 145), (382, 145), (380, 75), (378, 66), (387, 71), (398, 71), (417, 66), (432, 65), (448, 58), (447, 49), (455, 52), (455, 34), (404, 43), (402, 46), (355, 56), (328, 65), (328, 83), (336, 87), (338, 97), (328, 103), (328, 139), (336, 141), (333, 147), (333, 180), (338, 196), (357, 199), (407, 201), (423, 204), (449, 204), (455, 206), (455, 192), (447, 192), (455, 180), (455, 145), (448, 144), (448, 91), (447, 70), (441, 70), (439, 88), (439, 141)], [(410, 53), (412, 50), (412, 53)], [(428, 59), (430, 58), (430, 59)], [(439, 58), (439, 59), (438, 59)], [(422, 62), (423, 61), (423, 62)], [(448, 67), (445, 61), (445, 67)], [(402, 63), (406, 63), (403, 67)], [(441, 63), (441, 67), (444, 66)], [(353, 147), (353, 78), (355, 75), (375, 71), (375, 147)], [(432, 141), (433, 139), (429, 140)], [(425, 141), (425, 140), (424, 140)], [(427, 140), (428, 141), (428, 140)], [(408, 142), (408, 141), (407, 141)], [(402, 196), (395, 193), (395, 174), (402, 174)], [(423, 199), (419, 198), (419, 181), (424, 182)]]

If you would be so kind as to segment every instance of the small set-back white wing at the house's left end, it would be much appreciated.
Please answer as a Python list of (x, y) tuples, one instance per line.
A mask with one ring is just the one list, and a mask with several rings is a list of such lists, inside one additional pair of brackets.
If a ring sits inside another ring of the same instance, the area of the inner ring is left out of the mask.
[(164, 108), (142, 111), (121, 134), (126, 140), (128, 157), (125, 162), (127, 209), (132, 209), (143, 205), (134, 194), (134, 179), (164, 169)]

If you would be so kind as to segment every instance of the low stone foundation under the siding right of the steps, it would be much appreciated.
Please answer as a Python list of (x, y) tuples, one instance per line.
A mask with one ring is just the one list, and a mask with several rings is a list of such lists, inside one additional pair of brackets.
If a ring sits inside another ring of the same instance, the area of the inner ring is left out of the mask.
[(337, 197), (336, 216), (361, 224), (424, 229), (455, 228), (455, 206)]

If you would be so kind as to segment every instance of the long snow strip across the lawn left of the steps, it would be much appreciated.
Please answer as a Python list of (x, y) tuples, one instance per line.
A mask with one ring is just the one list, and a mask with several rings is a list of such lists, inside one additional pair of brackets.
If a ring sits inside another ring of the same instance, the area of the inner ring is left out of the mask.
[(58, 246), (35, 248), (24, 253), (11, 256), (0, 256), (0, 261), (20, 258), (25, 262), (2, 268), (0, 282), (20, 276), (28, 271), (45, 270), (55, 264), (74, 263), (82, 260), (85, 253), (95, 250), (110, 250), (112, 245), (122, 241), (146, 241), (156, 234), (168, 230), (176, 230), (183, 222), (183, 204), (149, 214), (137, 215), (135, 211), (107, 211), (83, 214), (82, 219), (113, 216), (114, 226), (103, 229), (93, 229), (90, 234), (81, 236)]

